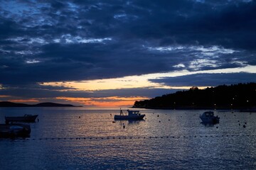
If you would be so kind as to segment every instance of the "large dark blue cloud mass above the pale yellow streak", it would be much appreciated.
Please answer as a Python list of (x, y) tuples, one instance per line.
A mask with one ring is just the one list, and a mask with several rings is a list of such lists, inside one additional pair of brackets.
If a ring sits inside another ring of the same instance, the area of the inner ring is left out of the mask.
[(255, 18), (249, 0), (1, 1), (0, 84), (255, 65)]

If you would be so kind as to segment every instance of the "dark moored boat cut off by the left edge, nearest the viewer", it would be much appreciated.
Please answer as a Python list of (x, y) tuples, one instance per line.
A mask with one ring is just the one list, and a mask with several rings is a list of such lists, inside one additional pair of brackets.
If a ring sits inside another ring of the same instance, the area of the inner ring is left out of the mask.
[(0, 124), (0, 137), (28, 137), (30, 132), (30, 125)]

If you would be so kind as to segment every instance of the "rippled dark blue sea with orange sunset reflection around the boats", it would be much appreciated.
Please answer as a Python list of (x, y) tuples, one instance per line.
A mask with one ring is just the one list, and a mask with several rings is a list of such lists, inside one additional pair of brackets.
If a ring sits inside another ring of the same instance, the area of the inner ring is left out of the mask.
[(215, 111), (220, 123), (203, 125), (203, 111), (141, 111), (113, 123), (119, 110), (0, 108), (0, 123), (39, 115), (30, 137), (0, 139), (0, 169), (256, 169), (256, 113)]

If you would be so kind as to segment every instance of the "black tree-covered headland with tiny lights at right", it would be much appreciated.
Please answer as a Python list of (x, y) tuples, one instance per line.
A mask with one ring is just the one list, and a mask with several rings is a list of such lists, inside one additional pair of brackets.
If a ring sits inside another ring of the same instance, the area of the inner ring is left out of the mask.
[(152, 109), (256, 109), (256, 83), (221, 85), (188, 91), (177, 91), (144, 101), (135, 101), (133, 108)]

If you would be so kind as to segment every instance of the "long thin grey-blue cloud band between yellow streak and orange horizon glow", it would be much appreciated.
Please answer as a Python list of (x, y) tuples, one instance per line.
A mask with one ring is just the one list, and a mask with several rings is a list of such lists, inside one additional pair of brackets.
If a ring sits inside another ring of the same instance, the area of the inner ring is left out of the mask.
[[(60, 91), (65, 90), (65, 91)], [(173, 93), (174, 89), (112, 89), (112, 90), (98, 90), (98, 91), (73, 91), (72, 88), (55, 88), (55, 87), (38, 87), (35, 86), (21, 86), (11, 89), (1, 89), (1, 95), (4, 96), (22, 96), (22, 98), (57, 98), (57, 97), (70, 97), (70, 98), (106, 98), (110, 96), (131, 97), (131, 96), (144, 96), (154, 98), (162, 94)]]

